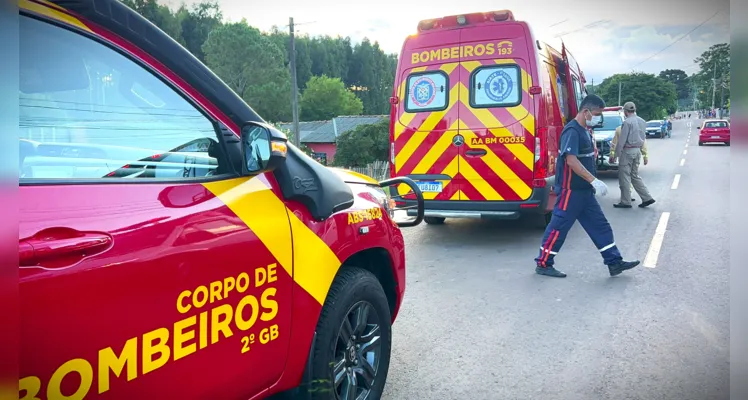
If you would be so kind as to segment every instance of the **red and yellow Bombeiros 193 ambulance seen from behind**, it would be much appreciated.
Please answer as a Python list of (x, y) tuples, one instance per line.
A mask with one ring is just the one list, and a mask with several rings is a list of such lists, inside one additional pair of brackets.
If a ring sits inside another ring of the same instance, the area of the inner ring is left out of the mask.
[[(402, 47), (391, 103), (393, 177), (410, 177), (425, 221), (550, 221), (561, 131), (586, 95), (569, 50), (509, 10), (423, 20)], [(399, 186), (398, 204), (414, 200)], [(410, 211), (415, 213), (415, 211)]]

